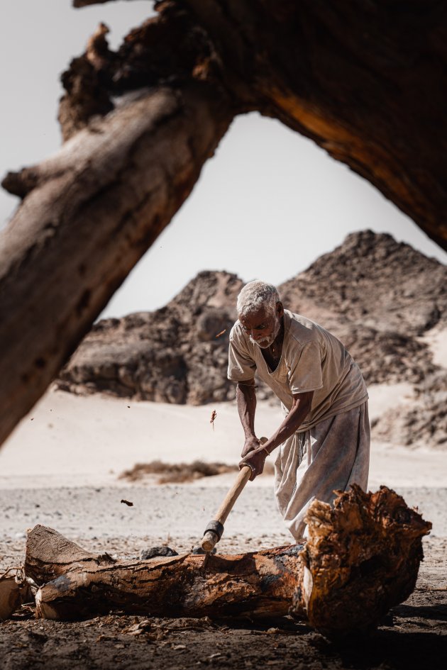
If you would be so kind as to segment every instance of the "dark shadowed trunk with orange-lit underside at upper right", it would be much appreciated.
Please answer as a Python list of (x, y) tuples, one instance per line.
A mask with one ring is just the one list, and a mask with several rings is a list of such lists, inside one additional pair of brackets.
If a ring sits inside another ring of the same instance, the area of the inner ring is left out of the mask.
[[(103, 0), (75, 0), (75, 6)], [(178, 7), (158, 3), (161, 11)], [(447, 7), (185, 0), (246, 108), (346, 162), (447, 248)]]

